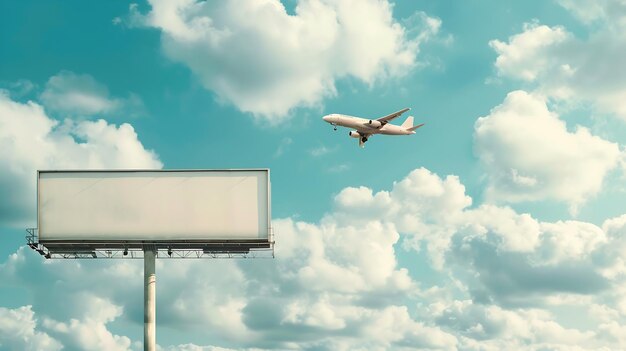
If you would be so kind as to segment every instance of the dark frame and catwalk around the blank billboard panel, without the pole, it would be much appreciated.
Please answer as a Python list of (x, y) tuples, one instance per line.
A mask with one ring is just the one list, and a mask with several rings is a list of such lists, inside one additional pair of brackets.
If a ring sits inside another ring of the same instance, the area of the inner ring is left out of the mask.
[[(27, 244), (45, 258), (143, 258), (154, 250), (159, 258), (264, 258), (274, 257), (271, 226), (271, 180), (269, 168), (244, 169), (121, 169), (37, 170), (37, 225), (40, 225), (40, 180), (43, 173), (237, 173), (265, 172), (267, 181), (267, 239), (233, 240), (41, 240), (38, 228), (27, 229)], [(159, 254), (159, 252), (163, 254)]]

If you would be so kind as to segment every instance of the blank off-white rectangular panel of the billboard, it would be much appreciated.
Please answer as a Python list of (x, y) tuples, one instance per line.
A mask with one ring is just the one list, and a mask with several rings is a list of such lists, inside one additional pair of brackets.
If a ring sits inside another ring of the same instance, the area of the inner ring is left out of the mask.
[(40, 171), (39, 240), (268, 240), (269, 170)]

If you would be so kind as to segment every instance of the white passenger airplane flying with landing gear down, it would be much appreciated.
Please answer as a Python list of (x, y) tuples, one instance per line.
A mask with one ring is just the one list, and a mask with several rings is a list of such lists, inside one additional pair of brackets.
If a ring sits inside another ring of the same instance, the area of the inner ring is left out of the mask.
[(385, 117), (379, 119), (365, 119), (360, 117), (340, 115), (333, 113), (322, 117), (322, 119), (335, 127), (337, 126), (353, 128), (356, 130), (348, 133), (352, 138), (359, 138), (359, 146), (364, 147), (365, 142), (373, 134), (386, 134), (386, 135), (410, 135), (415, 134), (415, 130), (424, 125), (424, 123), (413, 126), (413, 116), (409, 116), (402, 125), (397, 126), (389, 123), (394, 118), (400, 117), (401, 114), (410, 110), (405, 108), (398, 112), (394, 112)]

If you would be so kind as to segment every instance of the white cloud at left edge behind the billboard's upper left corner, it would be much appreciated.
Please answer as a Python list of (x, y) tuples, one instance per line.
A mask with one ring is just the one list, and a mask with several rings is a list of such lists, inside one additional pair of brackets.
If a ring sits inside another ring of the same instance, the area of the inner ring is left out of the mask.
[(0, 92), (0, 222), (32, 226), (36, 170), (161, 168), (130, 124), (60, 122), (36, 102)]

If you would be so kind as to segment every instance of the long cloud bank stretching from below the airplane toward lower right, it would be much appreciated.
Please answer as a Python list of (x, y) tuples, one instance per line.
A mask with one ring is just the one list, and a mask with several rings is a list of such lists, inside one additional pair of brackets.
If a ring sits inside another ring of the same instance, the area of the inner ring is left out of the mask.
[(391, 191), (346, 188), (335, 202), (332, 218), (339, 223), (393, 223), (404, 247), (425, 248), (433, 268), (450, 272), (484, 304), (537, 306), (602, 293), (612, 280), (604, 270), (615, 275), (621, 265), (596, 262), (610, 246), (619, 250), (620, 241), (593, 224), (541, 222), (494, 205), (470, 208), (458, 177), (442, 179), (423, 168)]

